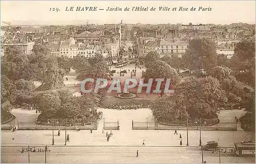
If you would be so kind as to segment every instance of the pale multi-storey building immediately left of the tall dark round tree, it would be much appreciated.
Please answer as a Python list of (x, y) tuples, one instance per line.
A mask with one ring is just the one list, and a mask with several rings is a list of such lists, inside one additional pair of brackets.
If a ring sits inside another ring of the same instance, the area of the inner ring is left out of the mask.
[(160, 56), (166, 54), (170, 57), (182, 57), (182, 54), (186, 52), (188, 41), (183, 40), (173, 40), (173, 41), (161, 41), (160, 42)]

